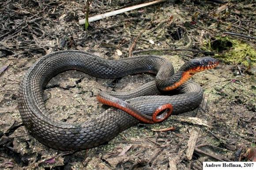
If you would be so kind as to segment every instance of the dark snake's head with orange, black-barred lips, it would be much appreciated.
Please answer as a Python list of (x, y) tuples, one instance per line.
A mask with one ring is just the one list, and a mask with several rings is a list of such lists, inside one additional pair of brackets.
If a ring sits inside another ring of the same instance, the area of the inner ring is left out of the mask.
[(209, 70), (209, 69), (215, 68), (218, 66), (218, 64), (219, 64), (219, 61), (211, 57), (196, 58), (188, 62), (187, 71), (190, 74), (196, 74), (203, 70)]

